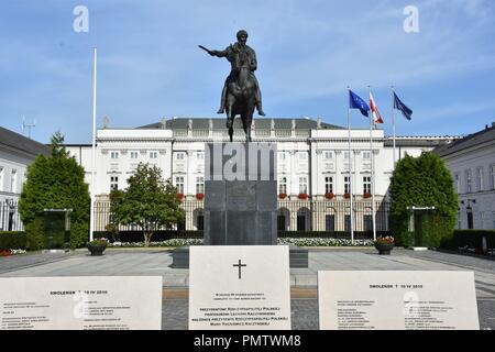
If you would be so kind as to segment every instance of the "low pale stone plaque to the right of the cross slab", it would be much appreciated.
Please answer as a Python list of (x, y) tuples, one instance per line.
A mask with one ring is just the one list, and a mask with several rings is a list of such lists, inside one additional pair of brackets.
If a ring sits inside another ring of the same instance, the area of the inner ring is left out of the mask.
[(479, 330), (472, 272), (318, 272), (322, 330)]

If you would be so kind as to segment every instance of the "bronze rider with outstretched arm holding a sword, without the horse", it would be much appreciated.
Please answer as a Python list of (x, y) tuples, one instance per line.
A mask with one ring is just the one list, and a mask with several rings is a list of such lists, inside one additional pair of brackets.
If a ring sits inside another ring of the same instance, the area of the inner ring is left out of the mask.
[(245, 67), (249, 68), (250, 76), (256, 86), (255, 99), (257, 113), (262, 117), (265, 116), (262, 108), (260, 85), (257, 82), (256, 76), (254, 76), (254, 72), (257, 68), (256, 53), (245, 44), (246, 41), (248, 41), (248, 32), (241, 30), (238, 32), (238, 43), (229, 45), (224, 51), (209, 51), (209, 54), (212, 56), (227, 57), (227, 59), (230, 62), (232, 66), (230, 75), (229, 77), (227, 77), (226, 84), (223, 85), (221, 106), (220, 109), (218, 110), (218, 113), (223, 113), (226, 111), (227, 90), (229, 84), (235, 81), (241, 68)]

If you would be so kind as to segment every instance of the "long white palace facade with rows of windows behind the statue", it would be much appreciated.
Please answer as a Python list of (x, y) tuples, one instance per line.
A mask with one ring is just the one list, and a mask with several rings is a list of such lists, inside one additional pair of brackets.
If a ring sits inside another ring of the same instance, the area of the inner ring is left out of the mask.
[[(235, 121), (234, 141), (244, 141)], [(351, 153), (346, 128), (321, 119), (256, 119), (253, 142), (277, 144), (278, 229), (285, 231), (349, 231), (350, 199), (354, 200), (355, 231), (371, 230), (372, 156), (375, 172), (377, 231), (388, 230), (388, 186), (394, 168), (393, 139), (383, 130), (351, 130)], [(170, 178), (179, 197), (184, 195), (186, 230), (202, 229), (205, 191), (205, 143), (227, 142), (224, 119), (170, 118), (135, 129), (103, 128), (97, 131), (96, 147), (96, 231), (108, 221), (108, 195), (124, 189), (139, 163), (158, 166)], [(418, 156), (444, 143), (449, 136), (396, 138), (396, 160)], [(84, 166), (91, 184), (91, 145), (67, 145)], [(350, 164), (352, 163), (352, 165)], [(350, 166), (352, 178), (350, 178)], [(350, 183), (352, 179), (352, 185)], [(91, 185), (90, 185), (91, 186)], [(92, 189), (90, 187), (90, 189)], [(98, 210), (100, 209), (100, 210)]]

